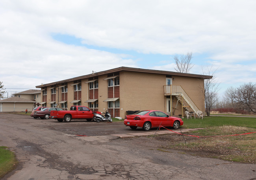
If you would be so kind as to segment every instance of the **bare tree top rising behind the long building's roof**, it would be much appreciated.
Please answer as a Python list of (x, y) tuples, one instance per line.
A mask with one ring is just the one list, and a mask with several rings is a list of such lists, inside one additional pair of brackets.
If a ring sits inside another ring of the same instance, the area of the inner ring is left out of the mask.
[(174, 69), (180, 73), (189, 73), (190, 69), (194, 66), (191, 64), (192, 52), (188, 52), (186, 55), (174, 55), (176, 67)]

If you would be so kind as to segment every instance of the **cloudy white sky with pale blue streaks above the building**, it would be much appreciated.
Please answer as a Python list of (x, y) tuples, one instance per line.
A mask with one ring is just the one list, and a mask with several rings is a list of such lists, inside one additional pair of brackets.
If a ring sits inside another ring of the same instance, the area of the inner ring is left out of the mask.
[(255, 0), (1, 0), (0, 82), (10, 95), (121, 66), (175, 71), (173, 55), (192, 52), (190, 73), (217, 69), (222, 95), (256, 82), (255, 9)]

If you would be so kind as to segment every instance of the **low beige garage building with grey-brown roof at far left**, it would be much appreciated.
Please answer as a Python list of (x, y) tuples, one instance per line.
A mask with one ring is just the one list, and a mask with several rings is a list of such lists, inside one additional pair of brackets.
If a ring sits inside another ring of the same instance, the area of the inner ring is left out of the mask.
[(0, 112), (32, 111), (35, 101), (19, 97), (11, 97), (0, 100)]

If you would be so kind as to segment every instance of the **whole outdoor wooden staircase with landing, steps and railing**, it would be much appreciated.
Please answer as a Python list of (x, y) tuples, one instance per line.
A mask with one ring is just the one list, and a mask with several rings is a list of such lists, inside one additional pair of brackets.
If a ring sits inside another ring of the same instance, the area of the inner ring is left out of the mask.
[[(182, 104), (182, 107), (184, 107), (187, 111), (193, 110), (196, 113), (200, 110), (189, 95), (187, 95), (186, 91), (181, 85), (164, 85), (163, 89), (165, 96), (176, 96), (178, 101)], [(185, 100), (185, 102), (183, 100)]]

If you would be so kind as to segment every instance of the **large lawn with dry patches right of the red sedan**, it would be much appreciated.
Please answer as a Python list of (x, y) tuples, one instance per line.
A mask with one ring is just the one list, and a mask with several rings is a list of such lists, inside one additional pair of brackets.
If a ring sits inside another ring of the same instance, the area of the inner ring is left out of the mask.
[[(210, 116), (203, 120), (184, 119), (182, 128), (204, 129), (184, 133), (199, 138), (185, 136), (186, 142), (180, 141), (166, 148), (183, 149), (200, 153), (202, 156), (256, 164), (256, 133), (253, 133), (256, 132), (256, 118)], [(250, 134), (241, 135), (244, 133)]]

